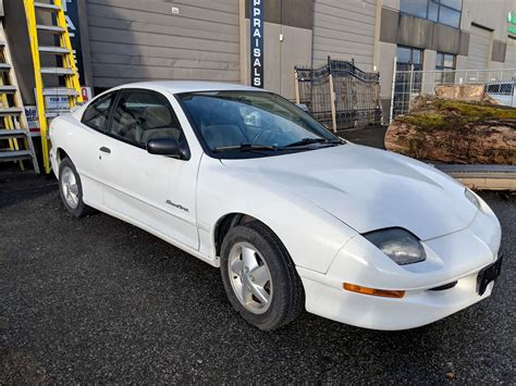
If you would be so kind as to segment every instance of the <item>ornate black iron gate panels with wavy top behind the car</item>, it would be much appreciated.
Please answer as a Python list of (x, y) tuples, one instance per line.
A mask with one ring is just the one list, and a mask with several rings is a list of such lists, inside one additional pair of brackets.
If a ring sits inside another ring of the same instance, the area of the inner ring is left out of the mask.
[(381, 124), (379, 73), (328, 58), (318, 69), (295, 67), (295, 77), (296, 102), (334, 132)]

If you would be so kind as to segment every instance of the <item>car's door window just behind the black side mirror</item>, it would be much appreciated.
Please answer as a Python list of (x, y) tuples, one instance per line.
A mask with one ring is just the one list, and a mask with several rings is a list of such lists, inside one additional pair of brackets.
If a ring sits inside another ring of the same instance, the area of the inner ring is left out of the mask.
[(108, 133), (142, 148), (152, 138), (183, 139), (180, 122), (167, 98), (147, 90), (122, 92)]

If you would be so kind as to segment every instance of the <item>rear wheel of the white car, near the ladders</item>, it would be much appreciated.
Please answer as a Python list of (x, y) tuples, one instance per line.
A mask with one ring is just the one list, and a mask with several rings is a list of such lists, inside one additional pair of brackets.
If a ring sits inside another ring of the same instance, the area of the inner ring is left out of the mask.
[(65, 158), (59, 165), (59, 194), (66, 211), (79, 219), (93, 212), (83, 201), (83, 185), (73, 162)]

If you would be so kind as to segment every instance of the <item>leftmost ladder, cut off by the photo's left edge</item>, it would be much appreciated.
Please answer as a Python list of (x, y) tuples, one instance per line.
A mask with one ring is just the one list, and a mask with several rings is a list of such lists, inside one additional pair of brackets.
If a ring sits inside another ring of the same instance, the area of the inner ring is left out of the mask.
[(0, 21), (0, 116), (3, 121), (3, 127), (0, 127), (0, 141), (8, 144), (7, 148), (0, 149), (0, 161), (16, 161), (24, 170), (23, 160), (30, 160), (34, 171), (39, 173), (2, 21)]

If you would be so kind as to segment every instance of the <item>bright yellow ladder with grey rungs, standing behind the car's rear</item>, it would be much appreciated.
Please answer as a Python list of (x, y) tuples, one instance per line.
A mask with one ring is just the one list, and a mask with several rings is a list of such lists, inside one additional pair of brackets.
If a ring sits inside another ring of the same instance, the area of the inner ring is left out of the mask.
[[(49, 107), (46, 105), (46, 97), (66, 97), (70, 109), (83, 102), (83, 97), (81, 95), (77, 67), (72, 51), (72, 43), (70, 42), (62, 0), (47, 1), (48, 2), (35, 2), (34, 0), (24, 0), (24, 5), (30, 38), (30, 50), (33, 53), (44, 167), (45, 173), (50, 173), (48, 125), (49, 119), (52, 116), (47, 113)], [(36, 15), (39, 16), (39, 13), (41, 13), (41, 15), (37, 18)], [(51, 22), (50, 24), (38, 24), (38, 20), (50, 20)], [(57, 34), (59, 37), (59, 46), (40, 46), (38, 34)], [(56, 66), (41, 67), (41, 54), (56, 55)], [(49, 76), (57, 76), (63, 87), (45, 87), (44, 77)]]

